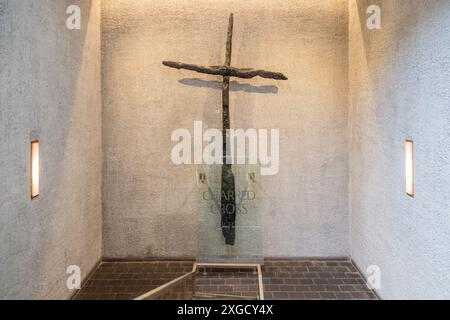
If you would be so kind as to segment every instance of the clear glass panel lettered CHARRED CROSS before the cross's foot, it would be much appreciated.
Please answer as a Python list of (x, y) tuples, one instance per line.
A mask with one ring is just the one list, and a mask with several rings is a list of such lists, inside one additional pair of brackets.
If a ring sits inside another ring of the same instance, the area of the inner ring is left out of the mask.
[(197, 168), (197, 260), (202, 263), (262, 263), (259, 165), (229, 168), (234, 176), (234, 188), (229, 187), (230, 181), (224, 187), (222, 165)]

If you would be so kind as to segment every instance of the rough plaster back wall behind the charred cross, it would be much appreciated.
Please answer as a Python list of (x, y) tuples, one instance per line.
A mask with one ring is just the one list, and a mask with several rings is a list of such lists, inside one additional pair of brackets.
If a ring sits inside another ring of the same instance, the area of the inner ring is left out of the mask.
[[(280, 172), (264, 177), (266, 256), (348, 256), (346, 0), (103, 1), (103, 254), (194, 256), (195, 166), (170, 160), (170, 135), (221, 128), (221, 78), (163, 60), (284, 72), (239, 80), (232, 127), (279, 128)], [(180, 81), (181, 80), (181, 81)]]

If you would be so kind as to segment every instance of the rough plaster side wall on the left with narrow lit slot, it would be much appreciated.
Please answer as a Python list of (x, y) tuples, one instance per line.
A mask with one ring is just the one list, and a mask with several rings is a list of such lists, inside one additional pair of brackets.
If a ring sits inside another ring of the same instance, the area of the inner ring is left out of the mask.
[(101, 257), (100, 1), (1, 0), (0, 44), (0, 299), (68, 298), (66, 267)]

